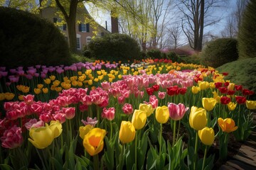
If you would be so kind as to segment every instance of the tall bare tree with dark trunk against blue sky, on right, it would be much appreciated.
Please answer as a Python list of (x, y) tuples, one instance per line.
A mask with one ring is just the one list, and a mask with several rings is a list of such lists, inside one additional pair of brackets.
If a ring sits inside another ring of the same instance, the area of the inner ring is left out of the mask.
[(210, 15), (213, 9), (220, 7), (225, 0), (178, 0), (181, 14), (182, 30), (188, 38), (189, 45), (196, 51), (203, 47), (203, 30), (220, 21), (220, 17)]

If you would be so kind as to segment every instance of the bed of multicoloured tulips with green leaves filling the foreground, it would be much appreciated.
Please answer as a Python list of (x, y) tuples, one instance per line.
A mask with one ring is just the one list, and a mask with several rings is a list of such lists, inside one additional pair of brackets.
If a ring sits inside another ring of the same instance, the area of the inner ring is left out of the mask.
[(256, 108), (225, 73), (168, 60), (0, 75), (1, 169), (212, 169), (211, 148), (225, 160)]

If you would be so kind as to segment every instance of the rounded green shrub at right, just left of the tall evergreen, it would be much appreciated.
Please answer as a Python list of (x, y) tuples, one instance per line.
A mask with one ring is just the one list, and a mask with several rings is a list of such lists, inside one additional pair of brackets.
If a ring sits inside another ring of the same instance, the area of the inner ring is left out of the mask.
[(210, 41), (202, 52), (202, 62), (206, 66), (220, 67), (227, 62), (238, 60), (238, 41), (234, 38), (219, 38)]

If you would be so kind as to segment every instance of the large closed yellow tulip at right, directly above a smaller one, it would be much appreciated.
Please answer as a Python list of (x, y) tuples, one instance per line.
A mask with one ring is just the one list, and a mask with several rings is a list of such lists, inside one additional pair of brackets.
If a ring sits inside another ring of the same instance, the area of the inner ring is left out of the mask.
[(194, 130), (202, 130), (206, 127), (206, 123), (206, 109), (192, 106), (189, 115), (189, 125), (191, 125), (191, 128)]

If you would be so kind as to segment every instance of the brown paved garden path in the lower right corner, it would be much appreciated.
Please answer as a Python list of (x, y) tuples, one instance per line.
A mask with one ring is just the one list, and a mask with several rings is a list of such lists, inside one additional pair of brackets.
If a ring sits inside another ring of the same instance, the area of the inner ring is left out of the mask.
[[(254, 125), (256, 125), (256, 113), (253, 115)], [(242, 144), (238, 154), (228, 159), (220, 166), (219, 170), (253, 170), (256, 169), (256, 128), (252, 130), (248, 140)]]

